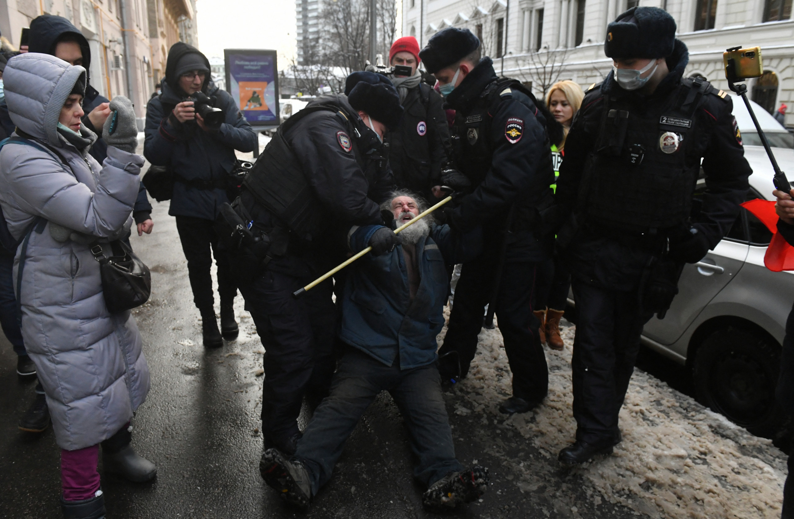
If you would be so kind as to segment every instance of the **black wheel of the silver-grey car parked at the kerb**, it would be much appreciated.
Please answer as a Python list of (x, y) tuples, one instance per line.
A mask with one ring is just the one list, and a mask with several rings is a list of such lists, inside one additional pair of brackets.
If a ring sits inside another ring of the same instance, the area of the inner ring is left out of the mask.
[(775, 401), (781, 348), (742, 329), (712, 333), (697, 350), (697, 399), (757, 436), (771, 437), (783, 413)]

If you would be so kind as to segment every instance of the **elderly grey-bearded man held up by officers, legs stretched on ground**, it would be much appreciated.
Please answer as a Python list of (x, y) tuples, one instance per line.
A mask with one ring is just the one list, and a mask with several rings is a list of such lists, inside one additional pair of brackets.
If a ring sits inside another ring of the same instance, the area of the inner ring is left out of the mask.
[[(425, 203), (406, 191), (384, 202), (394, 217), (392, 228), (412, 220)], [(351, 252), (367, 247), (382, 225), (354, 226)], [(481, 230), (460, 235), (428, 218), (398, 236), (402, 244), (380, 256), (368, 254), (353, 263), (341, 294), (340, 338), (348, 348), (333, 378), (331, 393), (314, 412), (295, 456), (275, 448), (262, 456), (265, 482), (288, 503), (305, 509), (326, 484), (348, 436), (380, 391), (394, 398), (410, 432), (419, 463), (414, 478), (428, 486), (422, 503), (429, 509), (452, 509), (479, 498), (488, 470), (464, 470), (455, 458), (452, 431), (441, 398), (436, 367), (436, 336), (444, 326), (447, 298), (445, 263), (476, 256)]]

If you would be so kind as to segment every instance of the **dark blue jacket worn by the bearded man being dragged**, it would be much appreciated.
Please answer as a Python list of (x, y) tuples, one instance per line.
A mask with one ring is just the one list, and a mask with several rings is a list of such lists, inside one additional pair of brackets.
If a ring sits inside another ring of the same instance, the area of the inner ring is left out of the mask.
[[(349, 248), (359, 252), (381, 225), (353, 228)], [(480, 253), (479, 226), (460, 235), (449, 225), (431, 226), (416, 244), (419, 287), (410, 299), (403, 247), (381, 256), (368, 254), (350, 267), (341, 295), (339, 337), (345, 343), (391, 366), (399, 353), (400, 369), (425, 366), (436, 359), (436, 336), (444, 327), (447, 299), (446, 263), (463, 263)]]

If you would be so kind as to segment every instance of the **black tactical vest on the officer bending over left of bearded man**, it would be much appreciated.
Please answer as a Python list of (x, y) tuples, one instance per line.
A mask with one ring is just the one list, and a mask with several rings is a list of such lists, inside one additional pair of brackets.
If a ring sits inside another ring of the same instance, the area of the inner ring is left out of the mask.
[(270, 211), (299, 239), (308, 242), (313, 236), (322, 234), (331, 221), (327, 214), (323, 215), (322, 203), (314, 194), (284, 133), (306, 115), (319, 110), (342, 113), (346, 120), (351, 117), (338, 106), (332, 105), (307, 106), (300, 110), (279, 126), (276, 135), (243, 181), (243, 186), (253, 195), (256, 203)]

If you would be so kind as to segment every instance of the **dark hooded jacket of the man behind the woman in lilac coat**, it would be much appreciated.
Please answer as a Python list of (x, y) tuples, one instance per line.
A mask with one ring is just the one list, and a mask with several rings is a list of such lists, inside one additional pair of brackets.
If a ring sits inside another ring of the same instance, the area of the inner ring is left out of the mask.
[[(33, 18), (30, 22), (29, 33), (29, 52), (40, 52), (42, 54), (49, 54), (55, 56), (55, 48), (60, 40), (63, 39), (65, 34), (74, 34), (80, 49), (83, 51), (83, 68), (86, 69), (86, 95), (83, 98), (83, 111), (86, 113), (83, 116), (83, 125), (87, 129), (97, 134), (97, 140), (91, 146), (91, 156), (97, 160), (98, 163), (104, 162), (107, 156), (107, 144), (102, 139), (102, 129), (94, 128), (91, 124), (91, 119), (88, 114), (103, 102), (110, 102), (108, 98), (99, 94), (99, 92), (91, 87), (90, 70), (91, 70), (91, 48), (88, 46), (88, 40), (80, 33), (71, 21), (64, 17), (54, 16), (52, 14), (42, 14), (41, 16)], [(5, 104), (0, 107), (0, 110), (5, 109)], [(0, 124), (2, 124), (3, 117), (0, 114)], [(3, 125), (5, 128), (5, 125)], [(138, 191), (138, 198), (135, 202), (135, 209), (133, 210), (133, 217), (136, 223), (148, 220), (152, 213), (152, 205), (146, 198), (146, 190), (143, 184)]]

